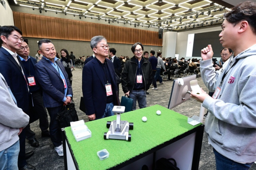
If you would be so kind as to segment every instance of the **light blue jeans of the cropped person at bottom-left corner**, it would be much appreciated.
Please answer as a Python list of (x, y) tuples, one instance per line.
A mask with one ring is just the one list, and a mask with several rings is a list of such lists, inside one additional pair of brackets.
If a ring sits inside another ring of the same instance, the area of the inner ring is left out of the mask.
[(18, 170), (19, 140), (0, 151), (0, 170)]

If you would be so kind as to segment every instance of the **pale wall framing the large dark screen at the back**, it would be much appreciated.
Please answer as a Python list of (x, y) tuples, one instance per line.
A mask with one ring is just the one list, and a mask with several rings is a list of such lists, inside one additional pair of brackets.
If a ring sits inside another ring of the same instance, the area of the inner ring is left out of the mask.
[[(191, 57), (187, 57), (187, 43), (188, 43), (188, 34), (197, 34), (202, 32), (212, 32), (212, 31), (220, 31), (221, 33), (221, 27), (211, 27), (211, 28), (203, 28), (200, 30), (191, 30), (191, 31), (184, 31), (184, 32), (178, 32), (177, 33), (177, 44), (176, 44), (176, 54), (179, 54), (179, 59), (181, 57), (185, 57), (185, 59), (189, 59)], [(207, 39), (207, 37), (206, 37)], [(211, 42), (209, 42), (211, 43)], [(194, 44), (196, 46), (196, 44)], [(201, 57), (197, 57), (197, 59), (201, 59)], [(217, 58), (218, 61), (220, 59)]]

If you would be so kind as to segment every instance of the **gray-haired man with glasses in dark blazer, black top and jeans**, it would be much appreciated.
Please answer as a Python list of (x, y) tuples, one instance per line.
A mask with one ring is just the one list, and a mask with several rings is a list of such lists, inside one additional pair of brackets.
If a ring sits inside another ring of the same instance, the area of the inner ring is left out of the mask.
[(117, 84), (113, 63), (106, 59), (109, 53), (106, 38), (94, 36), (90, 46), (95, 57), (83, 67), (82, 90), (86, 115), (91, 121), (114, 115)]

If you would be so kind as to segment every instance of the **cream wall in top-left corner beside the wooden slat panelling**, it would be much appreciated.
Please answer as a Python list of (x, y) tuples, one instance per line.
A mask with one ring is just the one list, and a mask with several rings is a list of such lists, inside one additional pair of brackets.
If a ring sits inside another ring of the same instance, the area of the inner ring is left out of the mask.
[(14, 26), (12, 9), (10, 8), (7, 0), (4, 1), (6, 9), (2, 4), (0, 4), (0, 26)]

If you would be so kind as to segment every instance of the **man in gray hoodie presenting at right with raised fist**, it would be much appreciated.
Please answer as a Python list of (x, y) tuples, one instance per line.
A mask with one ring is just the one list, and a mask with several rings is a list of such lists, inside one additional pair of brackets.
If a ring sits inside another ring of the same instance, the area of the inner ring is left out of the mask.
[[(224, 14), (223, 47), (234, 54), (221, 74), (212, 67), (212, 47), (201, 50), (200, 70), (213, 96), (202, 90), (191, 97), (208, 109), (206, 133), (218, 169), (248, 170), (256, 161), (256, 3), (246, 1)], [(234, 168), (235, 167), (235, 168)]]

